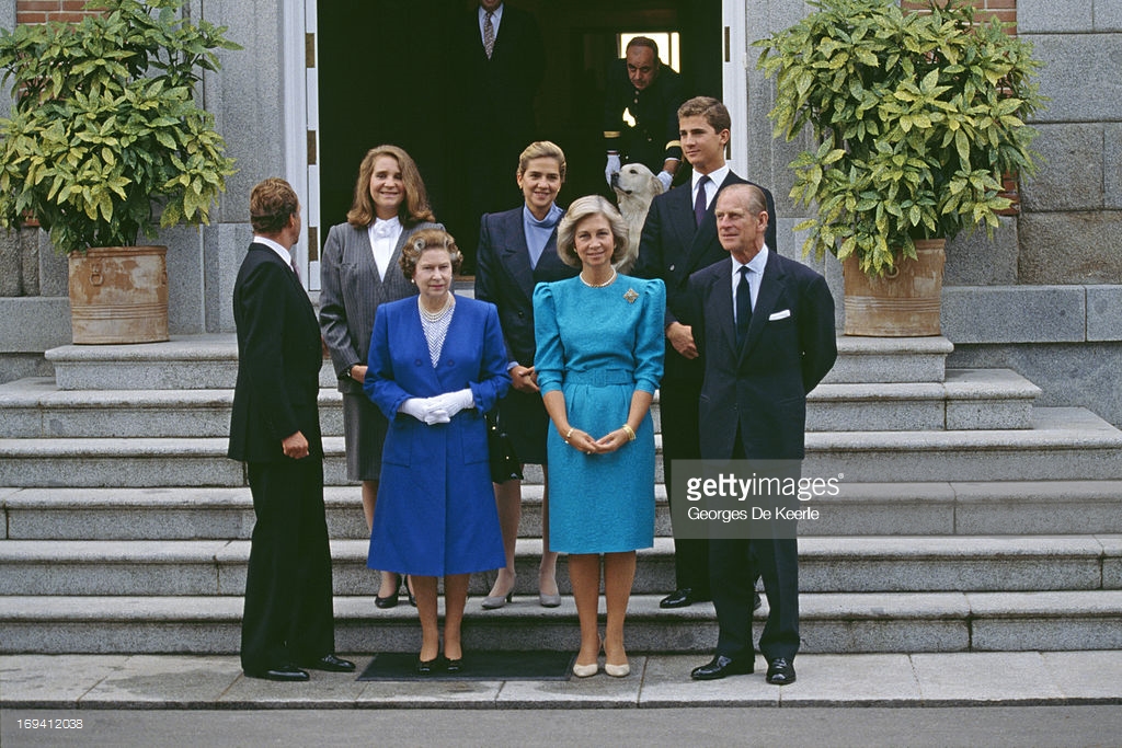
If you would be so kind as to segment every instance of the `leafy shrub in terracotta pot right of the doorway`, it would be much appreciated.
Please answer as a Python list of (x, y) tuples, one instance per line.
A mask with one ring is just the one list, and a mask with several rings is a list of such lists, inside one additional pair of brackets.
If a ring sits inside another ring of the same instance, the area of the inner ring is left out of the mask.
[(755, 43), (775, 76), (776, 137), (812, 131), (791, 163), (791, 197), (817, 204), (795, 227), (810, 230), (803, 252), (843, 261), (847, 334), (939, 334), (945, 241), (978, 224), (992, 236), (1011, 204), (1003, 176), (1033, 172), (1039, 63), (997, 19), (975, 22), (968, 0), (808, 4)]

